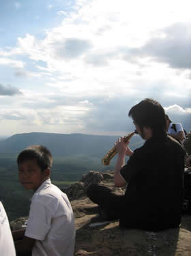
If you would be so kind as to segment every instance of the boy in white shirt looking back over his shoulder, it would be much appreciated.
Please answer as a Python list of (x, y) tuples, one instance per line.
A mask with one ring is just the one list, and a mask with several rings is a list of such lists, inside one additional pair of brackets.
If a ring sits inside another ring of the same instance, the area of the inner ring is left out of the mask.
[(26, 230), (12, 232), (16, 253), (74, 255), (74, 214), (67, 195), (50, 182), (50, 151), (42, 145), (32, 145), (20, 152), (17, 164), (18, 180), (34, 194)]

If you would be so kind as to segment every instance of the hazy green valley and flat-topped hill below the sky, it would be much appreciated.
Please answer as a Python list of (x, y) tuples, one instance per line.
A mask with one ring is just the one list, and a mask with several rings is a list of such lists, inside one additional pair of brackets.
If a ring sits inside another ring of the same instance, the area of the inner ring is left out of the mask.
[[(54, 161), (51, 180), (63, 188), (80, 180), (90, 170), (105, 171), (114, 169), (115, 158), (111, 165), (104, 167), (102, 158), (116, 141), (117, 137), (102, 137), (85, 134), (16, 134), (0, 141), (0, 200), (3, 202), (10, 221), (29, 212), (31, 191), (20, 186), (17, 177), (16, 157), (28, 145), (46, 145), (53, 152)], [(134, 140), (133, 140), (134, 139)], [(132, 137), (134, 149), (143, 143), (140, 137)], [(4, 152), (3, 152), (4, 150)]]

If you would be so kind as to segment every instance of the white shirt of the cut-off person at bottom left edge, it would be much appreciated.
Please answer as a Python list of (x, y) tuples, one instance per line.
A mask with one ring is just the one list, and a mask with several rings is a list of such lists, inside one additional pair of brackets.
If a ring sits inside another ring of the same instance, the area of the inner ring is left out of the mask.
[(0, 201), (0, 255), (16, 256), (8, 216)]

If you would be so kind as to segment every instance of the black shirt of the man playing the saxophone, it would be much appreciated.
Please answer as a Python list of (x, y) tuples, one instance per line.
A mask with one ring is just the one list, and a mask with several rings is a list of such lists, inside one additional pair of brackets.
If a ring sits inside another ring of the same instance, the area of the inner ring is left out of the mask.
[(185, 151), (175, 139), (151, 137), (121, 169), (128, 183), (121, 227), (158, 231), (181, 222)]

